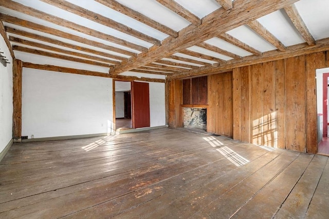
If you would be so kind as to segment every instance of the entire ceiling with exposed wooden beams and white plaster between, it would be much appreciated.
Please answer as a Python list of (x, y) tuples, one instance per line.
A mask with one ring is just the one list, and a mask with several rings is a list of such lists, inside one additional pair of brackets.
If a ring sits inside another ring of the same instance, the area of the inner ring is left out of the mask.
[(105, 67), (111, 77), (183, 78), (323, 51), (328, 7), (304, 0), (0, 0), (0, 31), (13, 57)]

